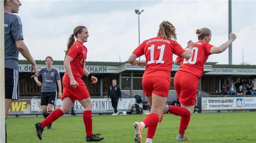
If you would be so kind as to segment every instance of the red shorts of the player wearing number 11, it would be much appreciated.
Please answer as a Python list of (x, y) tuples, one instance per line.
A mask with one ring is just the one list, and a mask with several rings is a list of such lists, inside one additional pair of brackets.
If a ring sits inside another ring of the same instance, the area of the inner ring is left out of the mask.
[(142, 79), (142, 87), (145, 96), (152, 96), (152, 93), (168, 97), (170, 81), (163, 77), (146, 77)]

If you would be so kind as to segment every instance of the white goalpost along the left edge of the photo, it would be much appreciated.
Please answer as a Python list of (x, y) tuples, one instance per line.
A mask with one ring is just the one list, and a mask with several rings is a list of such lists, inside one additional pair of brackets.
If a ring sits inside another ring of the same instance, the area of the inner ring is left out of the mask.
[(0, 143), (5, 143), (4, 0), (0, 0)]

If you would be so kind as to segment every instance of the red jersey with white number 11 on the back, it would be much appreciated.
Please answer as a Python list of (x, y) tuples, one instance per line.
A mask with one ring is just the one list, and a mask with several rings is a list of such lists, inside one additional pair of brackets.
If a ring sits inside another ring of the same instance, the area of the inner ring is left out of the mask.
[(162, 36), (148, 39), (142, 42), (133, 53), (140, 57), (145, 54), (145, 77), (164, 77), (170, 80), (173, 66), (173, 54), (181, 56), (185, 50), (178, 42), (171, 39), (163, 39)]

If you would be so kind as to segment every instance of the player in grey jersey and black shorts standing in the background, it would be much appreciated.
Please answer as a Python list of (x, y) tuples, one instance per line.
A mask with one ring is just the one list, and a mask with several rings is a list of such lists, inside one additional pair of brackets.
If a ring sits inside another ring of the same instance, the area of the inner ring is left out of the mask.
[[(41, 109), (44, 118), (53, 111), (53, 106), (56, 104), (57, 100), (57, 87), (56, 81), (59, 88), (58, 97), (61, 98), (61, 81), (60, 73), (57, 68), (53, 67), (53, 58), (51, 56), (46, 57), (46, 67), (40, 69), (38, 76), (34, 77), (37, 85), (42, 86), (41, 89)], [(38, 80), (41, 79), (41, 82)], [(48, 107), (48, 109), (47, 109)], [(46, 129), (51, 129), (52, 124), (46, 127)]]

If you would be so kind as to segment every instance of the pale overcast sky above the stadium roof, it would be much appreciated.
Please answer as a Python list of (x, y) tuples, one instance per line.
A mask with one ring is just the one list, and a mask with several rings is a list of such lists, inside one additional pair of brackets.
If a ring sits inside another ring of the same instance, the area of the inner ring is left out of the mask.
[[(197, 41), (195, 30), (208, 27), (210, 44), (219, 46), (228, 40), (228, 0), (20, 0), (18, 15), (23, 24), (24, 42), (32, 56), (44, 60), (50, 55), (63, 60), (66, 43), (77, 25), (89, 31), (87, 61), (128, 59), (140, 41), (155, 37), (159, 24), (168, 20), (176, 27), (177, 42), (183, 47), (188, 40)], [(256, 65), (256, 0), (232, 0), (233, 64)], [(175, 56), (176, 57), (176, 56)], [(20, 59), (24, 59), (20, 55)], [(145, 58), (142, 58), (145, 59)], [(228, 64), (228, 50), (211, 55), (209, 62)]]

